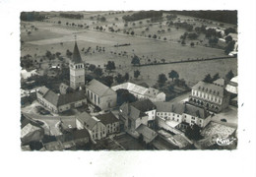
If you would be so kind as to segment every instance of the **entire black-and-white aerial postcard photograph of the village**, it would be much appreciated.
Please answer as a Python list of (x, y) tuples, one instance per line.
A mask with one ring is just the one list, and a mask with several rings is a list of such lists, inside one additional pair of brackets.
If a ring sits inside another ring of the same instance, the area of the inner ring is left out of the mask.
[(236, 149), (237, 33), (237, 11), (22, 12), (21, 149)]

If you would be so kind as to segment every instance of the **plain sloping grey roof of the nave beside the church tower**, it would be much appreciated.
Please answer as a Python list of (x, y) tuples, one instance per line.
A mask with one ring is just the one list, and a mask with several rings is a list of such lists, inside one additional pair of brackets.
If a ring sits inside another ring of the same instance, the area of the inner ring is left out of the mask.
[(108, 88), (107, 86), (105, 86), (102, 83), (96, 81), (95, 79), (92, 80), (87, 85), (87, 89), (92, 90), (98, 96), (109, 95), (109, 94), (116, 94), (116, 92), (113, 89)]

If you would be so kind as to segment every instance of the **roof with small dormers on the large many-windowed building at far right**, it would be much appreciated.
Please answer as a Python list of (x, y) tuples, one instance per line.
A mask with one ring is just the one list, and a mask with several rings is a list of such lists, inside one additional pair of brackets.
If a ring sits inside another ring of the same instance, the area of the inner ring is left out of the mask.
[(214, 84), (209, 84), (200, 81), (198, 84), (196, 84), (192, 89), (200, 90), (203, 92), (208, 92), (211, 94), (215, 94), (218, 96), (224, 96), (224, 88), (214, 85)]

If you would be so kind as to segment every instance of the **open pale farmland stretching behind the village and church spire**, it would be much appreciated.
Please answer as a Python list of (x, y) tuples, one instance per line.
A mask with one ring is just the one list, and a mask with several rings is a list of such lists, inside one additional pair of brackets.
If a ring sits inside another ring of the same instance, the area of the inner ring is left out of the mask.
[[(124, 27), (122, 16), (127, 14), (132, 13), (110, 13), (109, 15), (109, 12), (89, 12), (84, 13), (83, 20), (73, 20), (61, 18), (58, 13), (55, 13), (49, 15), (50, 19), (45, 20), (47, 22), (22, 22), (21, 40), (23, 44), (21, 55), (42, 56), (49, 50), (52, 53), (60, 52), (65, 57), (67, 49), (73, 50), (74, 35), (76, 35), (81, 55), (86, 63), (95, 64), (103, 68), (107, 61), (114, 61), (117, 68), (116, 73), (124, 74), (128, 72), (132, 77), (134, 70), (138, 69), (141, 72), (141, 76), (134, 82), (146, 82), (149, 86), (156, 84), (160, 73), (167, 76), (167, 73), (171, 70), (177, 71), (179, 78), (184, 79), (188, 86), (193, 86), (207, 74), (215, 75), (219, 73), (221, 77), (224, 77), (229, 70), (232, 70), (234, 75), (237, 74), (237, 59), (133, 67), (131, 65), (131, 57), (134, 54), (141, 58), (141, 64), (151, 63), (154, 60), (161, 62), (161, 59), (164, 59), (167, 63), (188, 58), (201, 59), (226, 55), (222, 49), (205, 47), (201, 44), (191, 47), (188, 43), (182, 46), (178, 40), (180, 35), (185, 32), (185, 29), (168, 28), (165, 25), (165, 20), (161, 24), (148, 23), (147, 20), (141, 20), (134, 22), (135, 25), (128, 23), (128, 27)], [(97, 15), (104, 16), (106, 22), (97, 22)], [(94, 20), (91, 17), (94, 17)], [(118, 21), (115, 20), (116, 18), (118, 18)], [(193, 18), (190, 17), (178, 16), (178, 18), (179, 21), (189, 20), (189, 22), (195, 24), (195, 27), (202, 25), (201, 22), (193, 22)], [(61, 21), (60, 25), (58, 21)], [(75, 26), (67, 26), (66, 23), (74, 23)], [(87, 25), (89, 28), (76, 27), (79, 24), (84, 25), (84, 27)], [(215, 25), (216, 23), (208, 26)], [(32, 26), (36, 27), (37, 30), (32, 30)], [(105, 30), (99, 31), (96, 26), (102, 26)], [(112, 27), (115, 30), (119, 29), (119, 31), (108, 31), (108, 27)], [(145, 31), (147, 27), (149, 27), (149, 31)], [(126, 34), (123, 32), (124, 29), (129, 32), (133, 30), (135, 34)], [(164, 29), (164, 32), (158, 33), (159, 29)], [(170, 30), (168, 31), (167, 29)], [(31, 34), (28, 34), (30, 30), (32, 30)], [(158, 35), (156, 39), (148, 37), (149, 34), (153, 35), (155, 33)], [(166, 40), (163, 37), (166, 37)], [(114, 47), (116, 44), (123, 43), (130, 43), (130, 45)], [(104, 47), (105, 51), (96, 51), (96, 46)], [(85, 54), (84, 51), (89, 47), (91, 47), (91, 50)], [(83, 48), (85, 49), (84, 51), (82, 51)], [(67, 61), (65, 60), (65, 62)], [(115, 73), (112, 75), (115, 75)]]

